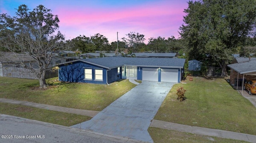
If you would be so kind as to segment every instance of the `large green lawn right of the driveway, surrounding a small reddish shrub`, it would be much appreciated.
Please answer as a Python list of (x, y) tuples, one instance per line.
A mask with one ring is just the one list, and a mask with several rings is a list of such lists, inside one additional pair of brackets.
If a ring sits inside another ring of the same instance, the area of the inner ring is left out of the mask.
[[(223, 78), (192, 78), (173, 86), (154, 119), (256, 135), (256, 108), (250, 101)], [(182, 102), (176, 95), (180, 86), (187, 90)]]

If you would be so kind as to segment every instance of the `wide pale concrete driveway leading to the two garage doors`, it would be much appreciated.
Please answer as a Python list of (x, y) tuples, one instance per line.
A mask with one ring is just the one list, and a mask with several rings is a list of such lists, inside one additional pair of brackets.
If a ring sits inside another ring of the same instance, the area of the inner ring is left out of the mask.
[(148, 127), (173, 84), (143, 81), (94, 118), (71, 127), (153, 142)]

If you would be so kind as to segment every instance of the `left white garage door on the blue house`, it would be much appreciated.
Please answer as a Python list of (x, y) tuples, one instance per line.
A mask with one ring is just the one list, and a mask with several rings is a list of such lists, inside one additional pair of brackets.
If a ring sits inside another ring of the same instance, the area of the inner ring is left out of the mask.
[(142, 80), (158, 81), (158, 68), (142, 68)]

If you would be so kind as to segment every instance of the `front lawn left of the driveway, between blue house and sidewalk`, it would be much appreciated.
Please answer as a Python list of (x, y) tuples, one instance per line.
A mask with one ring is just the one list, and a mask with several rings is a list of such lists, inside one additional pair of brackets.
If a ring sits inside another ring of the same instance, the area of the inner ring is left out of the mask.
[(108, 86), (59, 82), (57, 79), (47, 79), (50, 86), (40, 89), (38, 80), (0, 77), (0, 98), (101, 111), (136, 86), (128, 80), (113, 82)]

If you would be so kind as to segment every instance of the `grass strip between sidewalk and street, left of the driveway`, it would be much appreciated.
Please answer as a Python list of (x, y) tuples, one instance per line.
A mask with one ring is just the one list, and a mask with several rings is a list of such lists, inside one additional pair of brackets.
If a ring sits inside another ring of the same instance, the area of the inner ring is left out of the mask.
[(64, 126), (75, 125), (91, 119), (91, 117), (88, 116), (50, 111), (45, 109), (1, 102), (0, 113)]

